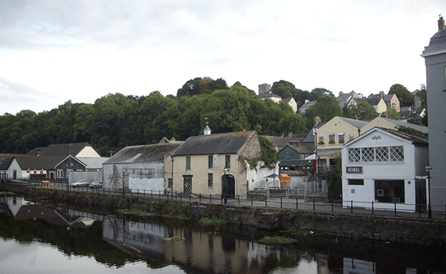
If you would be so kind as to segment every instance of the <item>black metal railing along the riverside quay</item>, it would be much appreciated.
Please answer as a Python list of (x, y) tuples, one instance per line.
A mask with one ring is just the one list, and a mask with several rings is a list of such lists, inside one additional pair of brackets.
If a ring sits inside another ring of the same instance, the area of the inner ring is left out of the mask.
[[(180, 201), (198, 201), (200, 203), (222, 203), (222, 204), (238, 204), (242, 206), (257, 206), (270, 208), (288, 208), (298, 210), (313, 210), (322, 212), (340, 212), (340, 213), (356, 213), (356, 214), (379, 214), (388, 216), (410, 216), (418, 218), (427, 218), (426, 204), (408, 204), (408, 203), (386, 203), (386, 206), (392, 205), (392, 208), (379, 208), (379, 203), (374, 201), (342, 201), (342, 200), (325, 200), (316, 199), (298, 199), (298, 198), (268, 198), (266, 196), (257, 195), (202, 195), (200, 193), (183, 193), (169, 192), (157, 190), (139, 190), (139, 189), (122, 189), (122, 188), (90, 188), (72, 187), (69, 184), (51, 183), (47, 184), (42, 181), (26, 180), (29, 186), (36, 188), (60, 189), (75, 192), (94, 192), (104, 195), (128, 195), (135, 197), (150, 197), (158, 199), (176, 199)], [(361, 205), (361, 206), (358, 206)], [(415, 210), (407, 210), (403, 206), (414, 206)], [(446, 219), (446, 205), (431, 205), (432, 217), (434, 219)]]

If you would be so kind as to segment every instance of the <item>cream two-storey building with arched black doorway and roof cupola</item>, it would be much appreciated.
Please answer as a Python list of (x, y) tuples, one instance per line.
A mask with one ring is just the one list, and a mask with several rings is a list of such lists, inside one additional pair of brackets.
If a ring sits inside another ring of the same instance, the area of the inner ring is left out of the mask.
[[(208, 128), (208, 127), (207, 127)], [(254, 178), (246, 159), (259, 160), (257, 132), (231, 132), (191, 136), (172, 155), (173, 192), (196, 195), (246, 196)]]

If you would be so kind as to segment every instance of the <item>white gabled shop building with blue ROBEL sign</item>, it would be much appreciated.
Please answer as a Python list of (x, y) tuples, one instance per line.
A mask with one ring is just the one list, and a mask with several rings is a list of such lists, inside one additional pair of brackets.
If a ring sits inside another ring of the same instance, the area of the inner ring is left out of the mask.
[[(398, 211), (426, 205), (427, 136), (374, 127), (342, 149), (344, 207)], [(372, 203), (373, 202), (373, 203)], [(421, 208), (424, 210), (425, 206)]]

